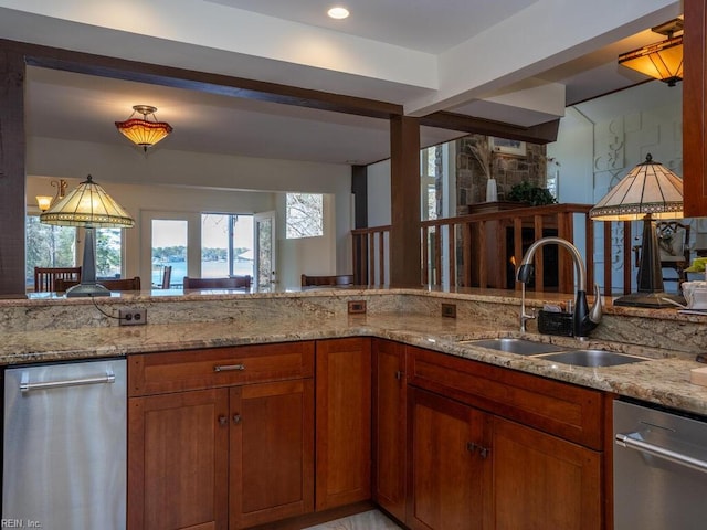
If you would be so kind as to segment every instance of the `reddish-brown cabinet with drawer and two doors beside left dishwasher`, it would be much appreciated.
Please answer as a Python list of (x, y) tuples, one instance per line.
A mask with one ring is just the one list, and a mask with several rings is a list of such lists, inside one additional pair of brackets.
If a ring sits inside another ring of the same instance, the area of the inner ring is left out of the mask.
[(239, 529), (313, 510), (313, 342), (129, 367), (129, 530)]

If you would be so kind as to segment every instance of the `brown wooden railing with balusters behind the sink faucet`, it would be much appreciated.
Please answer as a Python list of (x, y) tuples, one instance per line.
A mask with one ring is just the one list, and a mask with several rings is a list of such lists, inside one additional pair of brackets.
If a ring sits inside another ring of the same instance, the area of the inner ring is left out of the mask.
[[(421, 285), (450, 287), (519, 288), (515, 267), (529, 244), (547, 235), (557, 235), (581, 250), (587, 266), (588, 290), (594, 284), (594, 222), (589, 218), (591, 205), (551, 204), (485, 211), (456, 218), (422, 221)], [(623, 237), (619, 248), (613, 244), (613, 224), (600, 223), (603, 235), (602, 292), (631, 292), (632, 244), (631, 223), (620, 223)], [(598, 234), (599, 235), (599, 234)], [(389, 284), (388, 241), (390, 226), (352, 231), (354, 272), (359, 285)], [(580, 240), (580, 241), (576, 241)], [(616, 261), (622, 262), (618, 264)], [(574, 269), (569, 253), (555, 245), (538, 248), (535, 261), (535, 290), (571, 293)], [(612, 271), (623, 268), (622, 285), (612, 285)], [(547, 271), (546, 271), (547, 268)]]

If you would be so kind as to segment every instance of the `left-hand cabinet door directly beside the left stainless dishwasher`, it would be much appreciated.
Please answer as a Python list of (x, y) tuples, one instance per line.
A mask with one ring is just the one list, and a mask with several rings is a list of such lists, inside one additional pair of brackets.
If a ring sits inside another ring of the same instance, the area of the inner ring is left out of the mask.
[(128, 529), (228, 528), (229, 394), (131, 398)]

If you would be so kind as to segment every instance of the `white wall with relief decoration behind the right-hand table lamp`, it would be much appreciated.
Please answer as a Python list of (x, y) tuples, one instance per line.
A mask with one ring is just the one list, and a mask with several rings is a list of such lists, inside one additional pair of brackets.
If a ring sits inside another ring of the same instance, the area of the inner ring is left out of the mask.
[[(682, 89), (658, 81), (570, 107), (560, 120), (558, 140), (548, 157), (560, 163), (560, 202), (595, 204), (647, 153), (678, 176), (683, 169)], [(693, 221), (694, 223), (694, 221)], [(614, 223), (616, 224), (616, 223)], [(641, 223), (633, 223), (632, 246), (640, 244)], [(620, 248), (624, 234), (612, 233), (611, 256), (603, 255), (603, 236), (595, 230), (595, 278), (603, 285), (603, 264), (613, 262), (612, 284), (622, 285)], [(635, 267), (632, 271), (635, 288)]]

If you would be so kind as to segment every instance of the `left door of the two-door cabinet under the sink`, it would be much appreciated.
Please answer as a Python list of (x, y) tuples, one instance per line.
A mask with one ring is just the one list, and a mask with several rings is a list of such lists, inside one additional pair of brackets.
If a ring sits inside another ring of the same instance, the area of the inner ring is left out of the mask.
[(411, 388), (408, 399), (412, 443), (405, 522), (412, 529), (486, 528), (489, 416), (420, 389)]

